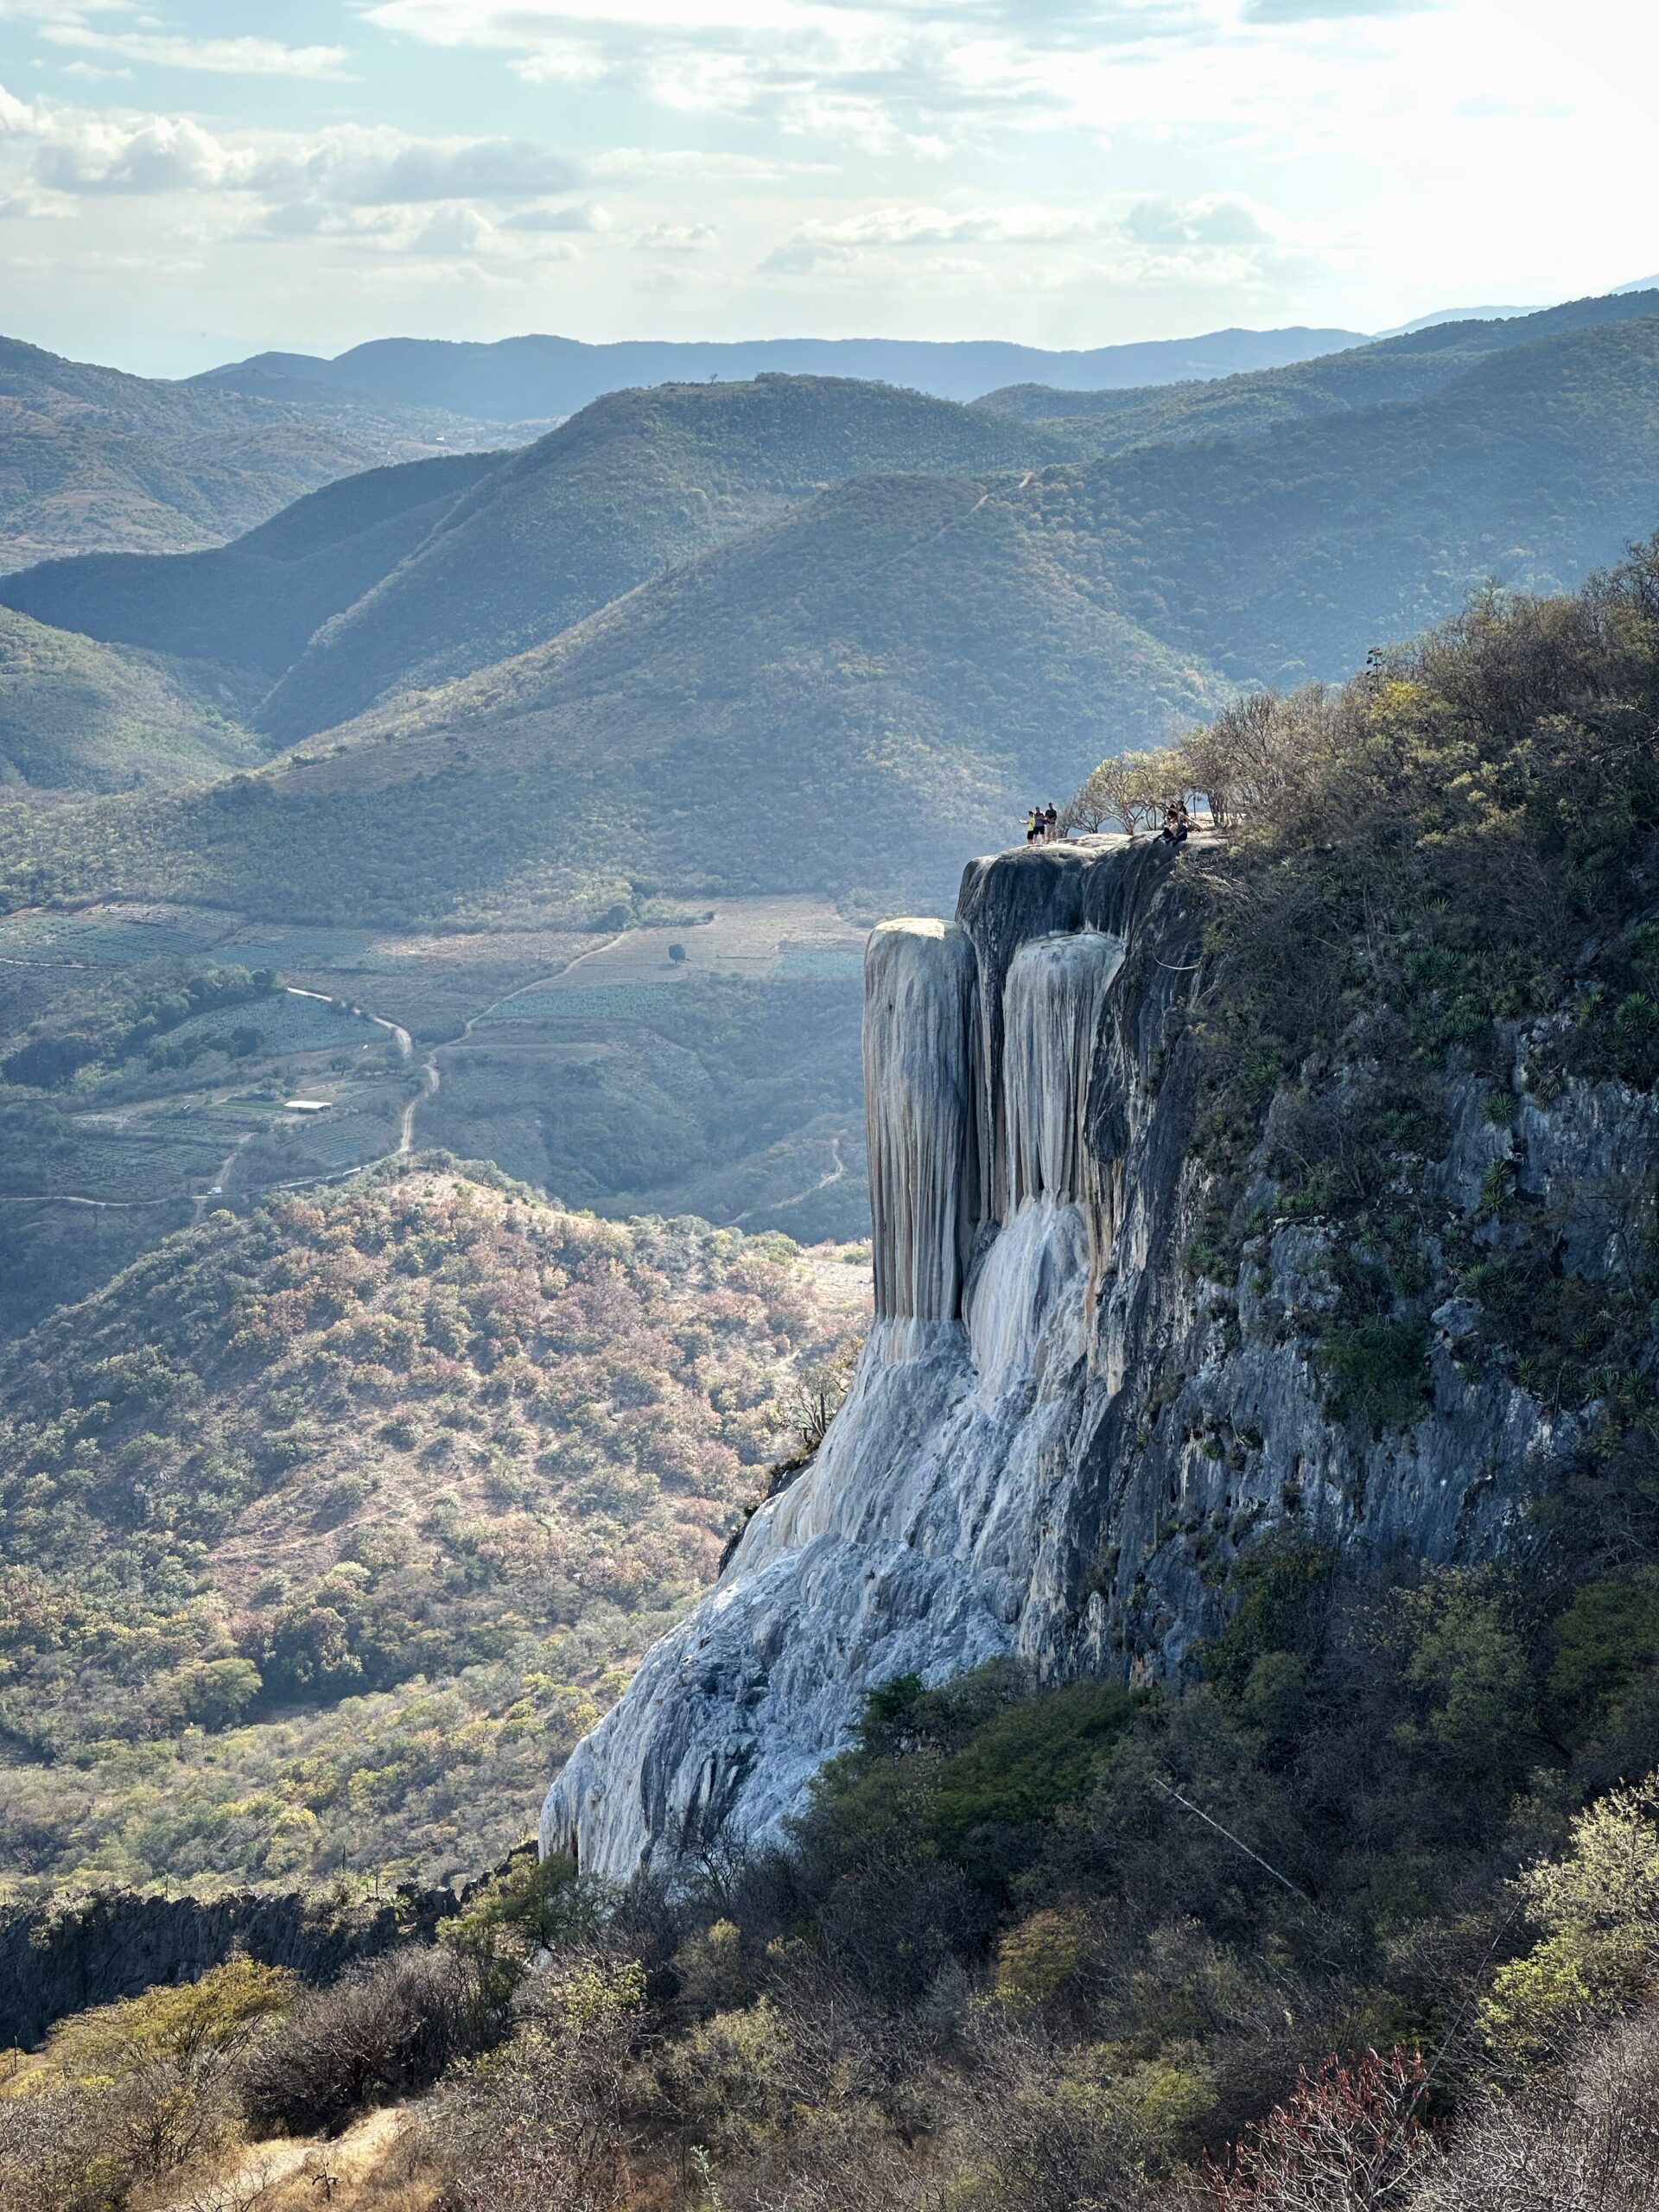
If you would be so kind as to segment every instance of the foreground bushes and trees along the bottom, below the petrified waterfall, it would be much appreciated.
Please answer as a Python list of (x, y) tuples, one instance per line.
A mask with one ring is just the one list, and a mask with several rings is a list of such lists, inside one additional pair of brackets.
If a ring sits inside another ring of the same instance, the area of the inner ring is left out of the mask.
[(66, 2022), (0, 2183), (73, 2143), (53, 2203), (126, 2212), (400, 2104), (327, 2152), (347, 2212), (1641, 2212), (1659, 1641), (1548, 1725), (1601, 1588), (1285, 1551), (1186, 1690), (891, 1681), (781, 1851), (624, 1896), (515, 1856), (332, 1986)]

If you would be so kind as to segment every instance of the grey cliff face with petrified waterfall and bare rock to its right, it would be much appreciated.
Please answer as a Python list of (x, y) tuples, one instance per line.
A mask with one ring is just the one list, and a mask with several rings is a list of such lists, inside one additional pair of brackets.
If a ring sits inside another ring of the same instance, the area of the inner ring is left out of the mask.
[[(1203, 960), (1183, 865), (1150, 843), (1004, 854), (967, 869), (953, 922), (872, 936), (858, 1376), (816, 1462), (553, 1783), (544, 1849), (626, 1878), (776, 1836), (894, 1674), (1002, 1655), (1051, 1679), (1177, 1672), (1228, 1564), (1274, 1531), (1431, 1559), (1517, 1531), (1575, 1422), (1462, 1356), (1467, 1301), (1433, 1312), (1416, 1416), (1378, 1427), (1334, 1416), (1312, 1352), (1334, 1237), (1276, 1219), (1265, 1175), (1237, 1285), (1188, 1265)], [(1568, 1084), (1513, 1126), (1480, 1104), (1451, 1079), (1447, 1157), (1400, 1172), (1453, 1232), (1500, 1161), (1566, 1223), (1566, 1265), (1617, 1274), (1652, 1099)]]

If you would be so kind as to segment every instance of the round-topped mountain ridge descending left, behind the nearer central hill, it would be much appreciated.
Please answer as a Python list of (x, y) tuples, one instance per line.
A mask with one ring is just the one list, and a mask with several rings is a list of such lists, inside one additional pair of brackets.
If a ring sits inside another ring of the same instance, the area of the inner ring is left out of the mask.
[(1051, 431), (849, 378), (613, 392), (520, 453), (372, 469), (184, 560), (49, 562), (0, 580), (0, 604), (281, 679), (261, 719), (292, 741), (389, 690), (538, 646), (825, 484), (1073, 451)]

